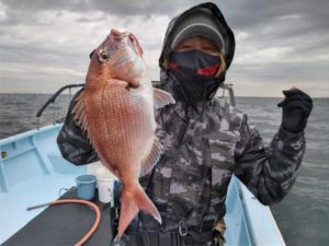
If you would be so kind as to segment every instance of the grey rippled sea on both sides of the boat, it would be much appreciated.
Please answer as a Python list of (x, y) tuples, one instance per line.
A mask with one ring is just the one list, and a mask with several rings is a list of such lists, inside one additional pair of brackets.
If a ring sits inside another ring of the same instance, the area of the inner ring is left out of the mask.
[[(70, 97), (60, 95), (41, 120), (35, 115), (50, 97), (45, 94), (0, 94), (0, 139), (53, 124), (65, 117)], [(269, 143), (281, 122), (280, 98), (237, 97), (237, 107)], [(329, 98), (314, 99), (307, 150), (292, 191), (271, 210), (287, 246), (329, 245)]]

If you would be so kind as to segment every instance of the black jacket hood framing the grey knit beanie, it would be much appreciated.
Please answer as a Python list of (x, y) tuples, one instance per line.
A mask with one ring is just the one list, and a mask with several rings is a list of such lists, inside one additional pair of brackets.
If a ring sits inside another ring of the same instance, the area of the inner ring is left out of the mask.
[(220, 10), (218, 9), (218, 7), (213, 3), (213, 2), (205, 2), (205, 3), (201, 3), (198, 5), (192, 7), (191, 9), (184, 11), (183, 13), (177, 15), (175, 17), (173, 17), (171, 20), (171, 22), (168, 25), (167, 32), (166, 32), (166, 36), (164, 36), (164, 40), (163, 40), (163, 45), (162, 45), (162, 51), (161, 51), (161, 56), (159, 59), (159, 66), (161, 68), (161, 70), (166, 70), (166, 68), (163, 67), (163, 61), (164, 59), (169, 58), (171, 50), (171, 43), (173, 40), (173, 31), (178, 27), (179, 23), (189, 14), (193, 13), (193, 12), (206, 12), (211, 15), (214, 16), (214, 21), (215, 23), (218, 25), (218, 28), (220, 31), (220, 34), (223, 36), (224, 39), (224, 48), (225, 48), (225, 54), (224, 54), (224, 58), (226, 61), (226, 70), (229, 68), (230, 62), (234, 58), (234, 54), (235, 54), (235, 46), (236, 46), (236, 42), (235, 42), (235, 35), (232, 33), (232, 31), (230, 30), (230, 27), (227, 25), (224, 15), (222, 14)]

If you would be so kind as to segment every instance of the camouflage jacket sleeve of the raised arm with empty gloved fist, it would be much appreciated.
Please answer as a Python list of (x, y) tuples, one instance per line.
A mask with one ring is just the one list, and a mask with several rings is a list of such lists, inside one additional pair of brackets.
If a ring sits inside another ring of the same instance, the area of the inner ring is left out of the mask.
[(292, 133), (280, 128), (266, 148), (245, 115), (240, 136), (235, 152), (235, 175), (263, 204), (281, 201), (296, 180), (305, 152), (304, 132)]

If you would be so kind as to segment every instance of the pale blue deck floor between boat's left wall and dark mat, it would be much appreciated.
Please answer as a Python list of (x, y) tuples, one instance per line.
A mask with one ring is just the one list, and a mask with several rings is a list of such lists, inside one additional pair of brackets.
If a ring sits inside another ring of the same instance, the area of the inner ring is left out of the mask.
[(26, 211), (26, 208), (58, 199), (61, 188), (75, 186), (76, 176), (43, 175), (16, 185), (9, 194), (0, 192), (0, 244), (46, 209)]

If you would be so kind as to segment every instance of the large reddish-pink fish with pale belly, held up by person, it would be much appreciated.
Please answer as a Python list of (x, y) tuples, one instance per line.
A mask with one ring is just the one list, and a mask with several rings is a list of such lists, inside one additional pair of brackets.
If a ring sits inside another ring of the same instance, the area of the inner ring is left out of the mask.
[(139, 210), (161, 224), (138, 179), (154, 168), (163, 149), (156, 136), (155, 110), (174, 103), (170, 93), (152, 87), (136, 36), (111, 30), (91, 55), (72, 113), (101, 163), (123, 184), (118, 238)]

